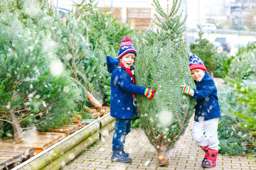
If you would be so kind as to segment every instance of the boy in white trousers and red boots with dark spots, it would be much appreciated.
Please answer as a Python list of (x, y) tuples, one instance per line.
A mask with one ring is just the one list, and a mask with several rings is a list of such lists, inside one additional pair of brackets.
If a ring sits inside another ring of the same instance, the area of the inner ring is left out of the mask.
[(202, 166), (212, 168), (216, 166), (218, 154), (218, 119), (220, 106), (218, 103), (217, 88), (206, 66), (196, 55), (189, 58), (189, 69), (196, 83), (196, 89), (188, 85), (183, 86), (183, 94), (196, 98), (195, 122), (191, 131), (192, 139), (206, 152)]

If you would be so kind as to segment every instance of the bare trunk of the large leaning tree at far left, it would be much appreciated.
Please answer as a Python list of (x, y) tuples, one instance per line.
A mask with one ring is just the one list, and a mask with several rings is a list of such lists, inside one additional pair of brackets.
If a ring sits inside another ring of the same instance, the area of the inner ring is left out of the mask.
[(21, 142), (23, 135), (22, 129), (21, 129), (21, 125), (18, 122), (18, 119), (16, 118), (16, 115), (14, 114), (13, 111), (10, 111), (11, 113), (11, 118), (13, 120), (13, 128), (14, 128), (14, 142), (15, 143), (19, 143)]

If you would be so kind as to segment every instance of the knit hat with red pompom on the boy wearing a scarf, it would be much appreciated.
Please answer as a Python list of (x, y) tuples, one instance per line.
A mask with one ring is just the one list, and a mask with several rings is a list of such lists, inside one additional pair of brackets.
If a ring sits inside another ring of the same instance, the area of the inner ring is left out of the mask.
[(122, 39), (121, 45), (119, 47), (118, 60), (120, 60), (120, 58), (128, 53), (134, 53), (135, 56), (137, 55), (136, 50), (132, 45), (132, 39), (129, 37), (125, 37)]

